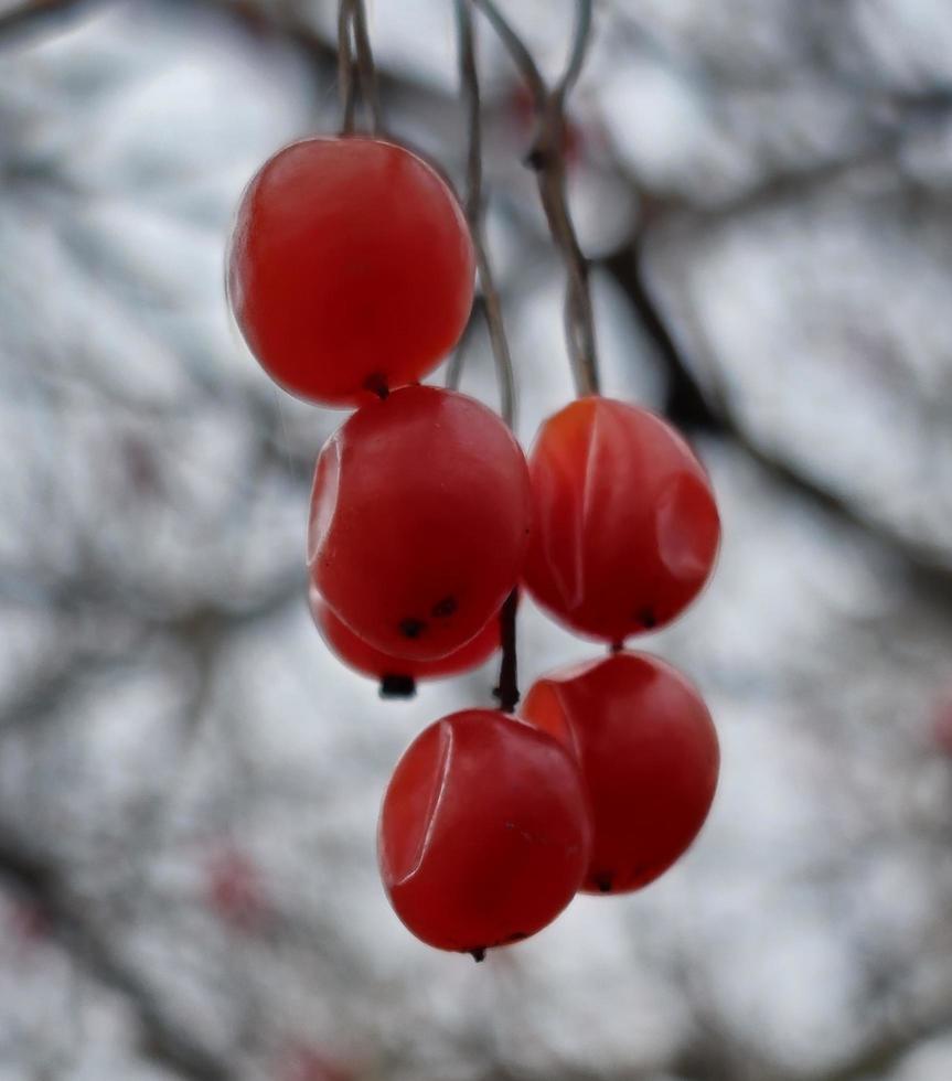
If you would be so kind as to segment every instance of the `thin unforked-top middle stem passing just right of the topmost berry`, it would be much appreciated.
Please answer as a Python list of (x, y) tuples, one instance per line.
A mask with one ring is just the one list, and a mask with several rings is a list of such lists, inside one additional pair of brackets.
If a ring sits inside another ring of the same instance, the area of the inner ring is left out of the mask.
[[(456, 12), (457, 30), (459, 33), (460, 87), (466, 106), (467, 127), (469, 131), (466, 212), (475, 249), (477, 270), (483, 295), (483, 312), (496, 366), (501, 413), (505, 422), (512, 428), (515, 425), (515, 381), (513, 377), (512, 354), (510, 353), (509, 341), (505, 334), (502, 303), (493, 278), (483, 228), (482, 115), (470, 0), (456, 0)], [(459, 361), (457, 361), (457, 357), (459, 357)], [(453, 362), (448, 374), (458, 381), (459, 366), (462, 364), (462, 353), (458, 352), (453, 357)]]

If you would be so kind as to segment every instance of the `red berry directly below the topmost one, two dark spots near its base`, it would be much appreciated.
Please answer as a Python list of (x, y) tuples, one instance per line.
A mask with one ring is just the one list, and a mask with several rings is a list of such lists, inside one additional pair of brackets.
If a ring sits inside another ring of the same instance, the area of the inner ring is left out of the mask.
[(311, 580), (359, 638), (391, 656), (461, 649), (522, 571), (525, 458), (473, 398), (414, 386), (343, 424), (318, 458)]

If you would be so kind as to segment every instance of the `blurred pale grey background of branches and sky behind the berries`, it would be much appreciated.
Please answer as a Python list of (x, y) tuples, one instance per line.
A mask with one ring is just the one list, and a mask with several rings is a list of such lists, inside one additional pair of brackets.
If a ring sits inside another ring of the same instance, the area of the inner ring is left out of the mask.
[[(548, 76), (569, 0), (500, 0)], [(450, 0), (372, 0), (389, 130), (462, 181)], [(375, 822), (494, 665), (382, 702), (304, 603), (313, 459), (223, 253), (338, 127), (330, 0), (0, 0), (0, 1081), (952, 1078), (952, 4), (602, 0), (569, 196), (606, 393), (703, 456), (688, 856), (482, 965)], [(533, 128), (478, 18), (526, 446), (573, 394)], [(435, 378), (439, 379), (440, 373)], [(495, 404), (477, 329), (463, 389)], [(597, 647), (520, 612), (523, 689)]]

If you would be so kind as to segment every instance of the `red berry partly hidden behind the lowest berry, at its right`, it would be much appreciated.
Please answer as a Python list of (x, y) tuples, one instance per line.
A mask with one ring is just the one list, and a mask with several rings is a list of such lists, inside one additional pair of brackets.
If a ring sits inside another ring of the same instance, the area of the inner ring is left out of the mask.
[(619, 653), (539, 679), (522, 715), (578, 758), (591, 805), (584, 889), (622, 893), (657, 878), (697, 835), (717, 788), (717, 732), (671, 665)]

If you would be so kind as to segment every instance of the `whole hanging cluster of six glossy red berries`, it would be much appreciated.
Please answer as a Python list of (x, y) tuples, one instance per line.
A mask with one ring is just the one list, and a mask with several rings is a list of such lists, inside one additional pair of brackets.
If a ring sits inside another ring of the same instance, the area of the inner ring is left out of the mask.
[(646, 885), (700, 828), (718, 773), (710, 716), (680, 673), (623, 643), (698, 593), (719, 522), (703, 467), (644, 409), (581, 398), (526, 462), (489, 408), (418, 385), (461, 334), (473, 279), (448, 184), (365, 137), (270, 159), (229, 255), (232, 306), (266, 371), (359, 407), (311, 494), (311, 609), (331, 649), (409, 689), (495, 651), (520, 585), (611, 647), (536, 683), (518, 718), (436, 721), (394, 771), (378, 834), (391, 901), (422, 941), (481, 957), (579, 890)]

